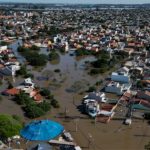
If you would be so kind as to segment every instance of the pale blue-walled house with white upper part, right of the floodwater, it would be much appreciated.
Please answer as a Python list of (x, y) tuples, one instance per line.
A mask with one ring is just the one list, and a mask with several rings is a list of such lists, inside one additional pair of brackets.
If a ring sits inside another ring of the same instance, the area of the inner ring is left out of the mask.
[(111, 80), (122, 83), (130, 82), (129, 69), (127, 67), (123, 67), (119, 69), (117, 72), (112, 72)]

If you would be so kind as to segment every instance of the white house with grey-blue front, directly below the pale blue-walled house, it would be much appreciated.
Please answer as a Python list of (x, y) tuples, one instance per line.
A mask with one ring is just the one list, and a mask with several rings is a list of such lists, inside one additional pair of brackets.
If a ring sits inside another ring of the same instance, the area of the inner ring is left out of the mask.
[(120, 84), (119, 82), (111, 81), (105, 87), (105, 92), (122, 95), (125, 91), (130, 90), (131, 84)]

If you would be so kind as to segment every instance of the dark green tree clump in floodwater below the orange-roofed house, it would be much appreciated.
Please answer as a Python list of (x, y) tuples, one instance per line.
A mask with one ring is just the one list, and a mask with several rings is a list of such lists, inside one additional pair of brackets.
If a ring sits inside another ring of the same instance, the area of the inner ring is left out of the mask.
[(54, 99), (49, 90), (42, 89), (40, 93), (47, 99), (41, 103), (36, 103), (33, 98), (29, 97), (29, 95), (24, 92), (20, 92), (20, 94), (14, 97), (14, 101), (22, 106), (26, 116), (29, 118), (37, 118), (44, 115), (46, 112), (50, 111), (51, 106), (54, 108), (59, 107), (58, 102)]

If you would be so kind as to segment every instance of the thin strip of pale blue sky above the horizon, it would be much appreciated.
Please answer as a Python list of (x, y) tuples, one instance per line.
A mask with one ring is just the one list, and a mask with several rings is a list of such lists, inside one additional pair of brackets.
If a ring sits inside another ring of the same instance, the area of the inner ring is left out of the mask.
[(150, 0), (0, 0), (0, 2), (69, 4), (143, 4), (150, 3)]

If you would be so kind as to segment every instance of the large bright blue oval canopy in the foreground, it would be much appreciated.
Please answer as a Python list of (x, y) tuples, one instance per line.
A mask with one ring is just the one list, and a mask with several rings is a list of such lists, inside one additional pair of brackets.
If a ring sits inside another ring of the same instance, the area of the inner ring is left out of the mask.
[(64, 127), (51, 120), (33, 121), (20, 131), (22, 137), (33, 141), (47, 141), (60, 135)]

